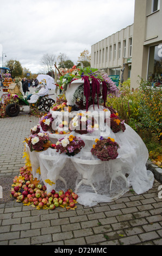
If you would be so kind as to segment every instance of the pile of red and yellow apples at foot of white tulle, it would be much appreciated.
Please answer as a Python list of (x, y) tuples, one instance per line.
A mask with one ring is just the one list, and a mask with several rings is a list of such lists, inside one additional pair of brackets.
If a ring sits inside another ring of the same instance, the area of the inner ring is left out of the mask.
[(24, 204), (32, 203), (34, 206), (38, 206), (39, 209), (49, 207), (49, 209), (54, 210), (58, 206), (74, 208), (76, 206), (76, 200), (78, 195), (75, 194), (70, 188), (64, 192), (60, 190), (58, 193), (52, 190), (47, 193), (46, 186), (41, 184), (32, 183), (33, 175), (24, 166), (21, 168), (21, 177), (24, 179), (17, 180), (14, 179), (14, 190), (11, 194), (17, 199), (17, 202), (22, 202)]

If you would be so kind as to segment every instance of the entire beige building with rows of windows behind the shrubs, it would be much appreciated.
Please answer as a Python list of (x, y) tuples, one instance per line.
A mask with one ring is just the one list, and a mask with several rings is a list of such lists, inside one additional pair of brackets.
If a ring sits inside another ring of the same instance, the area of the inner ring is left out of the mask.
[(161, 11), (162, 0), (135, 0), (134, 24), (92, 45), (91, 67), (124, 81), (130, 77), (132, 88), (139, 86), (138, 76), (160, 77)]

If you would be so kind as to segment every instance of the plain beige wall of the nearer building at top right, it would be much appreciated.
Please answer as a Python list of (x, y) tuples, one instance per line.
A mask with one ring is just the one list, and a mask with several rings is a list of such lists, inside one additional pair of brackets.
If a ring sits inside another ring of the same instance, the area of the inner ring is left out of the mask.
[(139, 77), (147, 79), (149, 46), (162, 43), (162, 0), (152, 13), (152, 0), (135, 0), (132, 73), (130, 87), (137, 88)]

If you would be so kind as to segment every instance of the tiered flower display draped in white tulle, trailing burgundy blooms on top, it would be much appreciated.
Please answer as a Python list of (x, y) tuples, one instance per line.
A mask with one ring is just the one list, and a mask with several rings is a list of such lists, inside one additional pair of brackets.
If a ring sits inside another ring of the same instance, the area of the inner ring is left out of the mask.
[(60, 87), (62, 99), (25, 140), (24, 156), (33, 179), (47, 193), (71, 188), (85, 206), (112, 202), (130, 187), (137, 194), (152, 188), (144, 142), (106, 106), (108, 96), (120, 96), (108, 75), (73, 67), (60, 77)]

